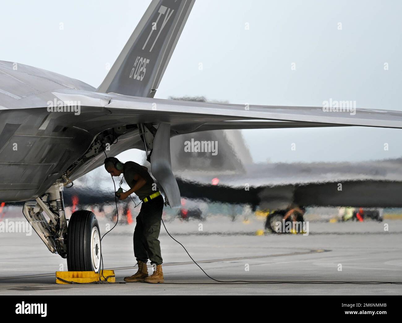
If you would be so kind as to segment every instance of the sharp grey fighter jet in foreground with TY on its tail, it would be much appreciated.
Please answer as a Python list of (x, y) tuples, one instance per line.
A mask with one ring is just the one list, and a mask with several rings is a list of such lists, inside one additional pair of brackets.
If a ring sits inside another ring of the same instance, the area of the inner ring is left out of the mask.
[(23, 213), (49, 250), (67, 258), (70, 271), (99, 271), (100, 232), (89, 211), (74, 212), (67, 225), (63, 189), (105, 156), (146, 151), (166, 202), (176, 208), (172, 136), (245, 128), (402, 128), (398, 111), (154, 98), (194, 1), (153, 0), (98, 88), (0, 61), (0, 201), (35, 200)]

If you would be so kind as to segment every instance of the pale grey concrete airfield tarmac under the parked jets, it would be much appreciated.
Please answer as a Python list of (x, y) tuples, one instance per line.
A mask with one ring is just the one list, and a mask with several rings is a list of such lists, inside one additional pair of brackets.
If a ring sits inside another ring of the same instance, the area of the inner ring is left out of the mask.
[[(3, 219), (4, 220), (4, 219)], [(24, 220), (12, 218), (12, 220)], [(108, 224), (100, 220), (100, 230)], [(66, 259), (51, 254), (35, 232), (0, 233), (1, 295), (400, 295), (402, 285), (291, 284), (288, 281), (402, 282), (402, 220), (384, 222), (310, 221), (308, 236), (257, 235), (263, 220), (209, 217), (165, 220), (170, 234), (217, 280), (274, 281), (271, 284), (218, 284), (195, 265), (184, 249), (161, 228), (165, 284), (55, 284), (55, 271), (67, 270)], [(389, 231), (384, 231), (388, 223)], [(136, 272), (132, 234), (135, 222), (119, 224), (103, 239), (105, 269), (117, 282)], [(261, 232), (260, 232), (261, 233)], [(249, 270), (245, 268), (248, 264)], [(342, 264), (342, 271), (338, 271)], [(151, 274), (152, 267), (148, 262)]]

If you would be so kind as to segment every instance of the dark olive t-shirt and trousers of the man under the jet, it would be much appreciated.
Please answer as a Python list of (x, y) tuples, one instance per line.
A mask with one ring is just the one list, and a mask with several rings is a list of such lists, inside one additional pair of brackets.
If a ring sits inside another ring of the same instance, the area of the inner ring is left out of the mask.
[(153, 185), (154, 180), (141, 165), (132, 161), (124, 163), (123, 174), (125, 181), (131, 188), (137, 183), (134, 180), (135, 174), (139, 174), (146, 180), (145, 185), (134, 192), (140, 200), (148, 198), (148, 202), (142, 202), (141, 210), (136, 218), (137, 224), (135, 225), (133, 237), (135, 258), (137, 261), (144, 263), (150, 259), (152, 265), (160, 265), (162, 256), (158, 237), (164, 205), (163, 197), (159, 195), (152, 200), (149, 198), (149, 195), (158, 191), (158, 188)]

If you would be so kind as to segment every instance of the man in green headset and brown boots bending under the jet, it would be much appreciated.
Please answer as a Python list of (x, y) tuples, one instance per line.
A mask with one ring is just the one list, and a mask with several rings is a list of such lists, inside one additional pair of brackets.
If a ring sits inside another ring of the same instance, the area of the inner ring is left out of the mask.
[[(163, 283), (162, 257), (158, 240), (164, 206), (163, 196), (148, 173), (147, 167), (132, 161), (121, 163), (115, 157), (106, 158), (104, 164), (105, 169), (112, 176), (120, 176), (123, 173), (130, 187), (127, 192), (118, 195), (120, 200), (125, 200), (132, 193), (142, 200), (133, 237), (138, 271), (133, 276), (125, 277), (124, 280), (125, 282)], [(148, 259), (154, 266), (154, 273), (151, 276), (148, 275)]]

